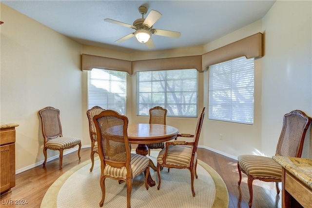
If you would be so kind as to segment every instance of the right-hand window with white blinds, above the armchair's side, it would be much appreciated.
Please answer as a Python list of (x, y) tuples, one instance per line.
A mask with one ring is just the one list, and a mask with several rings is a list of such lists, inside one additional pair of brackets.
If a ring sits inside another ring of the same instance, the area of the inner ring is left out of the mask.
[(254, 124), (254, 58), (209, 67), (209, 119)]

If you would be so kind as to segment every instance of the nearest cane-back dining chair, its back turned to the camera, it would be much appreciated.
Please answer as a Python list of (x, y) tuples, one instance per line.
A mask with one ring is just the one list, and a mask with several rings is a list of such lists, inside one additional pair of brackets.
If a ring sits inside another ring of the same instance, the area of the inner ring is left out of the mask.
[(128, 118), (114, 110), (104, 110), (93, 117), (98, 138), (98, 154), (101, 162), (100, 187), (102, 207), (105, 199), (105, 179), (126, 181), (127, 207), (130, 208), (132, 180), (145, 172), (145, 187), (150, 172), (149, 158), (131, 153), (127, 128)]

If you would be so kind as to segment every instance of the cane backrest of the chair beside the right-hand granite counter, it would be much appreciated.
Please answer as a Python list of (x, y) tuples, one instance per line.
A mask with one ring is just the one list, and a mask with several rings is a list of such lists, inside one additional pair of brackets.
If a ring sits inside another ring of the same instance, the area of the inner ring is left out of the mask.
[(286, 114), (275, 155), (301, 157), (304, 138), (310, 124), (311, 118), (301, 110), (293, 110)]

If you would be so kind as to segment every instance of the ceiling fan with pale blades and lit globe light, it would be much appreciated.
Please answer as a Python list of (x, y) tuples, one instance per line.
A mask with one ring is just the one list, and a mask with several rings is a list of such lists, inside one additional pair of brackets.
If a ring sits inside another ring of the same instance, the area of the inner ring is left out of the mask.
[(175, 32), (175, 31), (170, 31), (170, 30), (160, 30), (160, 29), (153, 28), (154, 23), (162, 16), (158, 11), (151, 10), (145, 19), (144, 19), (144, 15), (147, 13), (147, 8), (145, 6), (140, 6), (138, 8), (138, 11), (142, 15), (142, 18), (135, 20), (133, 22), (133, 25), (127, 24), (121, 21), (112, 20), (112, 19), (104, 19), (104, 21), (111, 22), (111, 23), (118, 24), (118, 25), (125, 26), (125, 27), (130, 27), (136, 30), (134, 33), (130, 33), (129, 35), (126, 35), (118, 39), (115, 42), (123, 42), (135, 36), (138, 42), (146, 43), (148, 48), (154, 48), (155, 45), (154, 45), (153, 40), (151, 39), (152, 34), (171, 37), (171, 38), (180, 37), (181, 35), (180, 32)]

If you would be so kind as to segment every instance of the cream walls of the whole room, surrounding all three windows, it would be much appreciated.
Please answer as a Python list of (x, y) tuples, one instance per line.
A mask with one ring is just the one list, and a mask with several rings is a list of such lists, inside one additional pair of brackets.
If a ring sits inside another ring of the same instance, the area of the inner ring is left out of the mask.
[[(265, 56), (255, 61), (254, 125), (210, 121), (206, 111), (199, 145), (230, 157), (273, 155), (283, 115), (301, 109), (312, 116), (311, 19), (311, 1), (276, 1), (262, 20), (206, 45), (130, 54), (81, 45), (1, 4), (0, 121), (20, 124), (16, 169), (42, 163), (38, 110), (48, 105), (60, 109), (64, 135), (90, 145), (87, 72), (80, 70), (81, 53), (129, 61), (201, 55), (257, 32), (265, 34)], [(198, 77), (200, 112), (203, 106), (208, 108), (208, 72)], [(130, 123), (148, 122), (136, 116), (136, 77), (128, 76), (127, 82)], [(167, 123), (193, 133), (196, 120), (168, 118)], [(57, 155), (48, 151), (50, 158)]]

